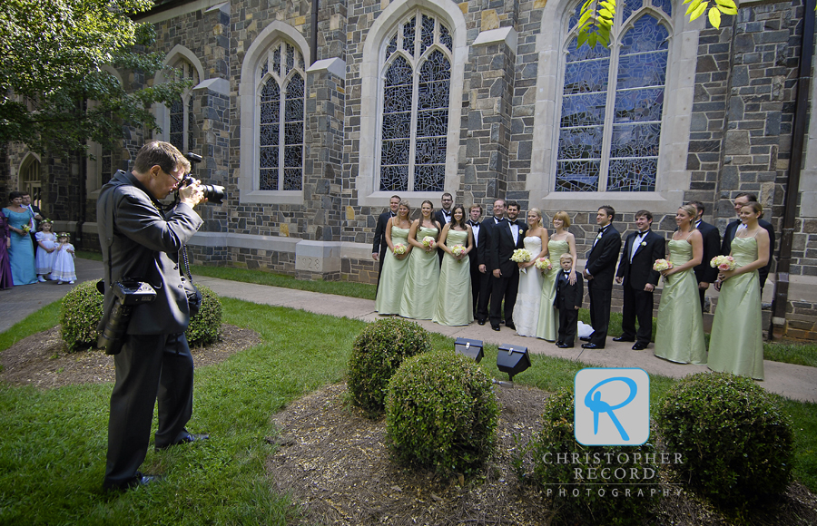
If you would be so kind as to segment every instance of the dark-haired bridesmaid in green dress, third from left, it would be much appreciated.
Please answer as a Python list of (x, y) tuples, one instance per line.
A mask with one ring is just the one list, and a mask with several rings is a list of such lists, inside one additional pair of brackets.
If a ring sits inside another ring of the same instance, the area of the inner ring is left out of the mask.
[[(457, 205), (451, 211), (451, 222), (443, 227), (439, 236), (439, 246), (446, 253), (439, 270), (437, 309), (432, 319), (440, 325), (468, 325), (474, 321), (471, 265), (468, 262), (468, 252), (474, 247), (474, 234), (465, 219), (465, 209)], [(455, 256), (452, 248), (458, 245), (464, 248), (459, 256)]]

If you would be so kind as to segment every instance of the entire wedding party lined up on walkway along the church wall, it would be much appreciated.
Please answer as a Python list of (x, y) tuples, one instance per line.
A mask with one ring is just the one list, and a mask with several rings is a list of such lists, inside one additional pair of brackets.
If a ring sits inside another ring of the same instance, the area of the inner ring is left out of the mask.
[[(380, 265), (379, 315), (447, 326), (476, 319), (495, 331), (504, 324), (520, 336), (570, 348), (586, 287), (592, 334), (580, 339), (583, 348), (601, 350), (615, 281), (624, 289), (623, 332), (613, 340), (632, 342), (641, 351), (653, 341), (654, 292), (663, 278), (655, 356), (763, 380), (761, 294), (774, 233), (761, 219), (763, 206), (755, 195), (734, 198), (737, 219), (727, 225), (723, 241), (703, 221), (698, 201), (677, 210), (671, 239), (651, 228), (650, 211), (635, 212), (636, 229), (624, 242), (613, 225), (615, 209), (603, 206), (581, 272), (566, 211), (553, 214), (548, 231), (539, 209), (517, 219), (515, 201), (495, 200), (492, 215), (482, 220), (477, 204), (467, 213), (448, 193), (441, 204), (435, 210), (423, 201), (419, 219), (411, 220), (408, 201), (392, 196), (389, 211), (379, 216), (372, 248)], [(720, 294), (707, 352), (703, 310), (710, 286)]]

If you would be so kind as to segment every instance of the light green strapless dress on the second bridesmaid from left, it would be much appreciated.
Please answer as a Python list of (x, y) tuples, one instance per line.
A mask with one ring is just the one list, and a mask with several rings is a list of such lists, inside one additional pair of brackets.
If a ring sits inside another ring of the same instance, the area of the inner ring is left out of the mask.
[[(417, 240), (430, 236), (438, 238), (438, 229), (420, 227)], [(437, 289), (439, 281), (439, 259), (437, 248), (426, 252), (421, 248), (412, 248), (408, 256), (408, 273), (403, 286), (403, 297), (400, 299), (400, 316), (411, 319), (431, 319), (437, 308)]]

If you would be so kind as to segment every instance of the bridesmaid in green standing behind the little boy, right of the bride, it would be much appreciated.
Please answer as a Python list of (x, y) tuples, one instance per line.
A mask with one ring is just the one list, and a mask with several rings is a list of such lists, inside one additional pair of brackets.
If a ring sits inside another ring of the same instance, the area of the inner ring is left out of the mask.
[(545, 272), (542, 284), (542, 300), (539, 303), (539, 323), (536, 326), (536, 337), (556, 342), (559, 332), (559, 311), (553, 306), (556, 299), (556, 278), (562, 268), (559, 258), (570, 253), (573, 267), (570, 269), (570, 284), (576, 284), (576, 237), (567, 231), (570, 227), (570, 216), (562, 210), (553, 216), (554, 233), (547, 241), (547, 258), (550, 259), (550, 270)]

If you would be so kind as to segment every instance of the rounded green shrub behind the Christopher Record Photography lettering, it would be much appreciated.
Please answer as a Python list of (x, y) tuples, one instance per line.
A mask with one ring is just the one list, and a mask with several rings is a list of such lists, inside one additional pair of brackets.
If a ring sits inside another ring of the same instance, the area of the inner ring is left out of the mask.
[(547, 398), (542, 430), (528, 444), (533, 482), (553, 499), (560, 522), (646, 523), (662, 496), (655, 446), (582, 445), (576, 442), (575, 414), (572, 390)]

